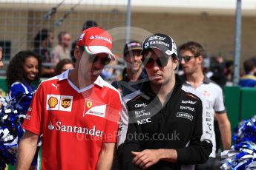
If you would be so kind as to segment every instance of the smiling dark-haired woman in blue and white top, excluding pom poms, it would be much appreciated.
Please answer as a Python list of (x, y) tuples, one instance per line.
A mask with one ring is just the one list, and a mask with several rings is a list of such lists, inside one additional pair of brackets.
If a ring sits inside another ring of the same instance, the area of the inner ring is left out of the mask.
[[(33, 82), (39, 81), (41, 61), (39, 55), (32, 51), (18, 52), (7, 67), (7, 86), (9, 95), (16, 100), (22, 100), (21, 105), (27, 112), (36, 87)], [(22, 99), (22, 95), (26, 94)]]

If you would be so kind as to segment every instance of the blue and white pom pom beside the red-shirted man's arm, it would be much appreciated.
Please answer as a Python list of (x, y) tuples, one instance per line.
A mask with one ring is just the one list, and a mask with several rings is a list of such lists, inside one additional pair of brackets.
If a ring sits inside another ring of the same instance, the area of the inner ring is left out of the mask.
[(33, 94), (22, 94), (19, 98), (0, 96), (0, 169), (6, 164), (16, 163), (18, 143), (24, 133), (22, 123), (27, 112), (27, 106), (21, 103), (32, 98)]

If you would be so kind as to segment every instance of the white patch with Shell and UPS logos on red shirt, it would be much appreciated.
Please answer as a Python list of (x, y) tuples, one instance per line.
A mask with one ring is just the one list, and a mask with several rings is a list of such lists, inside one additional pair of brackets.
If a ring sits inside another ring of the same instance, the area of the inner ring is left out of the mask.
[(71, 112), (73, 96), (70, 95), (47, 95), (46, 110), (59, 110)]

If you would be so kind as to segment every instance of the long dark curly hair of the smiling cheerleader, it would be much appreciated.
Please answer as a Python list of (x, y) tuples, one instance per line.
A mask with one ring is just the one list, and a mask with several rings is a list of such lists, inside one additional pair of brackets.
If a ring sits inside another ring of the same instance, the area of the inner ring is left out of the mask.
[(32, 51), (20, 51), (18, 52), (10, 61), (10, 64), (7, 67), (7, 86), (10, 87), (14, 82), (19, 81), (22, 84), (25, 83), (25, 75), (24, 75), (24, 62), (26, 58), (33, 56), (37, 59), (39, 63), (39, 75), (36, 77), (35, 81), (39, 81), (39, 76), (41, 73), (41, 60), (36, 52)]

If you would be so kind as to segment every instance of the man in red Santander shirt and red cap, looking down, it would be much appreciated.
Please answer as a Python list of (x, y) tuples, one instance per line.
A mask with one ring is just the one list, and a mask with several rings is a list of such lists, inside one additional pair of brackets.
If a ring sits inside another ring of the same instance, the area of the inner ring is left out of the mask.
[(40, 84), (28, 109), (17, 169), (29, 169), (39, 135), (42, 169), (111, 169), (121, 99), (100, 76), (112, 38), (91, 27), (80, 35), (76, 67)]

